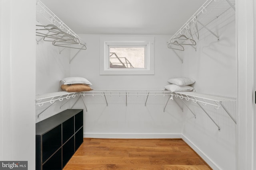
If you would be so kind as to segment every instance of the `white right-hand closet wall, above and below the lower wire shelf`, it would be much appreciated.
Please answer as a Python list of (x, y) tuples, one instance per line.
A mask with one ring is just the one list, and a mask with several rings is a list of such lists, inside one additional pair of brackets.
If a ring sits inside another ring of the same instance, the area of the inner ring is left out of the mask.
[[(236, 98), (236, 26), (235, 12), (230, 9), (208, 27), (220, 36), (220, 41), (202, 29), (195, 51), (186, 47), (182, 53), (182, 75), (196, 80), (197, 92)], [(184, 108), (186, 119), (182, 134), (191, 147), (214, 169), (236, 169), (236, 124), (220, 108), (204, 106), (218, 127), (197, 104), (188, 102), (197, 118)], [(236, 102), (223, 102), (224, 106), (236, 118)], [(205, 157), (206, 156), (206, 157)]]

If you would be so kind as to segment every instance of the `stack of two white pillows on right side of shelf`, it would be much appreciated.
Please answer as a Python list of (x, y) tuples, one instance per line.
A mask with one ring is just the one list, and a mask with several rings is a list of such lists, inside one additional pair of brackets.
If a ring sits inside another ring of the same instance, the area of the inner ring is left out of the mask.
[(189, 86), (196, 82), (192, 78), (188, 77), (175, 77), (167, 80), (170, 84), (164, 86), (166, 90), (170, 92), (190, 92), (194, 91), (192, 86)]

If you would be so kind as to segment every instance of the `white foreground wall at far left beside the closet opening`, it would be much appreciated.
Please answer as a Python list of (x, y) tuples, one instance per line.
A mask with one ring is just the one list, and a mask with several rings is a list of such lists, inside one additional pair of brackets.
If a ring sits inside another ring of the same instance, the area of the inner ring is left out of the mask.
[(28, 170), (35, 169), (34, 6), (0, 0), (0, 160), (28, 161)]

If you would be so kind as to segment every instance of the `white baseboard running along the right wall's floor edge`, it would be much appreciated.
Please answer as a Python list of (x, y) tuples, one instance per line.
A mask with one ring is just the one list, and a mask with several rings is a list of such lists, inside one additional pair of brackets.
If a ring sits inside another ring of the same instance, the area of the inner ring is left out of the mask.
[(213, 169), (213, 170), (221, 170), (202, 150), (200, 150), (194, 143), (192, 143), (188, 138), (184, 135), (181, 135), (182, 139), (199, 155), (201, 158)]

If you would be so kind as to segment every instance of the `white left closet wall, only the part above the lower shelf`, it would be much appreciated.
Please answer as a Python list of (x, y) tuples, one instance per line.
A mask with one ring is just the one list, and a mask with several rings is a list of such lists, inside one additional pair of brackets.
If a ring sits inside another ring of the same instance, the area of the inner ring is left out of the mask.
[(60, 80), (70, 76), (70, 48), (62, 49), (43, 40), (36, 44), (36, 94), (60, 91)]

